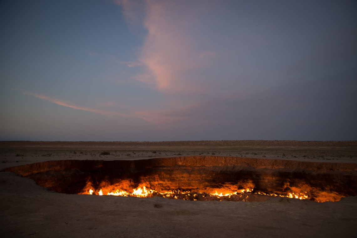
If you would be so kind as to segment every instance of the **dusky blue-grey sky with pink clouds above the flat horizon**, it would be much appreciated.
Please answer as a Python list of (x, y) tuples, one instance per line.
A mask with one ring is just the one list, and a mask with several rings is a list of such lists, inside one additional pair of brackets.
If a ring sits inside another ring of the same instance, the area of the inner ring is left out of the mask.
[(0, 140), (357, 140), (355, 0), (2, 0)]

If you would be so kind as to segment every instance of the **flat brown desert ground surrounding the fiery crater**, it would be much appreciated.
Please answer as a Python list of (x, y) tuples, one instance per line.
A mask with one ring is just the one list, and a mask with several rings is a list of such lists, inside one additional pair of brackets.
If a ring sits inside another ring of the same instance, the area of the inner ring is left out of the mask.
[[(0, 142), (0, 170), (58, 159), (200, 154), (356, 163), (357, 142)], [(1, 237), (357, 237), (357, 197), (200, 202), (61, 194), (0, 172), (0, 209)]]

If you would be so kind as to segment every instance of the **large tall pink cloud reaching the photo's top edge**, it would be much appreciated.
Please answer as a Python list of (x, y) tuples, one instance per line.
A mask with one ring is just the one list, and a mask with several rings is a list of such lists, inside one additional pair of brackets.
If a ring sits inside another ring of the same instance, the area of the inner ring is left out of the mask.
[(173, 1), (147, 1), (144, 26), (148, 35), (141, 62), (163, 92), (184, 91), (192, 87), (192, 79), (187, 72), (202, 67), (202, 53), (193, 49), (192, 38), (187, 32), (197, 19), (187, 11), (187, 18), (177, 21), (176, 5), (177, 2)]

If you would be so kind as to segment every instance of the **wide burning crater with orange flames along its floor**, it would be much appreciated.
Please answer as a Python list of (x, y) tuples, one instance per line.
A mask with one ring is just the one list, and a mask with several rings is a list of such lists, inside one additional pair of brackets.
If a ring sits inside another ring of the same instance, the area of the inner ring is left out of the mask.
[(4, 169), (51, 191), (185, 200), (263, 201), (268, 196), (339, 201), (357, 196), (357, 164), (182, 156), (58, 160)]

